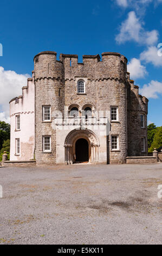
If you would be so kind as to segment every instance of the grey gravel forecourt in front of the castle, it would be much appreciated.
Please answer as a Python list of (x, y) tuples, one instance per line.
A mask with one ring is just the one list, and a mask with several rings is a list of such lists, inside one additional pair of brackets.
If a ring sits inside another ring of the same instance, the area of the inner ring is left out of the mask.
[(162, 164), (0, 167), (0, 244), (160, 244)]

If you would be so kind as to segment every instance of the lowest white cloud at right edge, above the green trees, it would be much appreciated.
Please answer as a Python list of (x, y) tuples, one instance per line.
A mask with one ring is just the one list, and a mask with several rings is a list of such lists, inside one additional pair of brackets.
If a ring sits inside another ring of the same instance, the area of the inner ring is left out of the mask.
[(159, 95), (162, 95), (162, 83), (152, 80), (150, 83), (144, 84), (139, 92), (148, 98), (157, 99)]

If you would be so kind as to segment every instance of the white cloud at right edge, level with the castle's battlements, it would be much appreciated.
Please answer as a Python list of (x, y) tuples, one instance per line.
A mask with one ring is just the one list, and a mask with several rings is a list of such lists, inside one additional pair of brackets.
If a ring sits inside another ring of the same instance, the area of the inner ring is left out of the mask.
[(152, 63), (154, 66), (162, 66), (162, 56), (158, 56), (159, 48), (150, 46), (146, 51), (140, 54), (140, 60), (146, 63)]

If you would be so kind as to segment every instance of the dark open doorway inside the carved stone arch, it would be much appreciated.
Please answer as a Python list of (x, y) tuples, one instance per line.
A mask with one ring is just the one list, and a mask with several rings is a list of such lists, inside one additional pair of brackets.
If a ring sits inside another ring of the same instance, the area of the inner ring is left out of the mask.
[(89, 161), (89, 144), (87, 139), (77, 139), (75, 143), (76, 162)]

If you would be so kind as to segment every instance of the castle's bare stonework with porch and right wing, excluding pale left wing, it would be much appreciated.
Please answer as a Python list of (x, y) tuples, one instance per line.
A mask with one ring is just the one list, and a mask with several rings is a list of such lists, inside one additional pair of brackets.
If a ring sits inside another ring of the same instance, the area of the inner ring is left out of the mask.
[[(85, 83), (84, 93), (78, 93), (79, 80)], [(104, 52), (102, 60), (99, 54), (83, 55), (83, 63), (78, 63), (75, 54), (60, 54), (57, 60), (56, 52), (38, 53), (34, 57), (33, 84), (35, 150), (30, 159), (35, 159), (36, 164), (74, 163), (76, 142), (81, 138), (88, 142), (89, 163), (126, 163), (127, 156), (147, 156), (148, 100), (139, 95), (138, 86), (129, 79), (127, 59), (120, 53)], [(42, 119), (42, 106), (50, 106), (49, 121)], [(113, 106), (118, 108), (116, 121), (111, 120)], [(72, 107), (78, 109), (76, 119), (69, 116)], [(92, 118), (86, 120), (82, 129), (85, 107), (92, 109)], [(144, 127), (140, 123), (141, 114)], [(54, 124), (61, 118), (62, 129), (59, 129), (59, 124)], [(101, 119), (102, 132), (96, 129)], [(67, 120), (73, 124), (67, 126)], [(50, 152), (43, 151), (43, 136), (51, 138)], [(112, 150), (112, 136), (118, 136), (116, 150)], [(145, 150), (141, 150), (141, 138), (145, 138)]]

